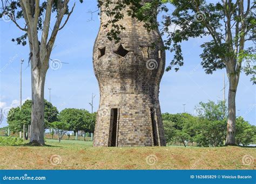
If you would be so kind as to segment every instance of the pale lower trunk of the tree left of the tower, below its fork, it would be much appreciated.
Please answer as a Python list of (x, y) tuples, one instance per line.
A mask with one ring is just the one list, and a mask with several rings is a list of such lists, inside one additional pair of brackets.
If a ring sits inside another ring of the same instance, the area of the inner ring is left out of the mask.
[[(33, 56), (32, 59), (37, 59)], [(35, 62), (31, 62), (35, 63)], [(39, 62), (36, 62), (39, 63)], [(44, 83), (46, 70), (31, 64), (32, 112), (30, 143), (44, 145)]]

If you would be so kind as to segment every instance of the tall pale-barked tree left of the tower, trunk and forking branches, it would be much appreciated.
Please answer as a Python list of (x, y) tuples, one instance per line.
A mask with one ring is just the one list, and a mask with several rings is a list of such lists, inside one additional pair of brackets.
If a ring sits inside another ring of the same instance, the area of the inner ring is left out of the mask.
[[(80, 1), (82, 2), (82, 1)], [(44, 145), (44, 84), (52, 47), (59, 30), (63, 29), (73, 12), (68, 6), (69, 0), (39, 0), (2, 1), (0, 17), (9, 16), (12, 22), (25, 34), (16, 39), (18, 44), (26, 45), (29, 40), (29, 60), (31, 64), (32, 114), (31, 114), (31, 143)], [(53, 13), (56, 15), (52, 15)], [(67, 18), (63, 25), (64, 15)], [(52, 18), (55, 17), (55, 18)], [(24, 26), (17, 19), (24, 19)], [(55, 23), (53, 23), (53, 20)], [(50, 29), (50, 25), (54, 25)], [(51, 31), (50, 31), (51, 30)], [(39, 38), (39, 33), (42, 33)], [(14, 39), (12, 39), (15, 41)]]

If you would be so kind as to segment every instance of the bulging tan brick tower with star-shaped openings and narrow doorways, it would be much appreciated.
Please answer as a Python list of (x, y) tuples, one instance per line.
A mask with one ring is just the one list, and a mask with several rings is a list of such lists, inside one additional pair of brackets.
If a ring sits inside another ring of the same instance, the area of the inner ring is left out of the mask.
[(93, 146), (165, 146), (158, 100), (165, 51), (159, 31), (148, 32), (144, 23), (125, 15), (116, 44), (106, 37), (104, 6), (100, 19), (93, 48), (100, 89)]

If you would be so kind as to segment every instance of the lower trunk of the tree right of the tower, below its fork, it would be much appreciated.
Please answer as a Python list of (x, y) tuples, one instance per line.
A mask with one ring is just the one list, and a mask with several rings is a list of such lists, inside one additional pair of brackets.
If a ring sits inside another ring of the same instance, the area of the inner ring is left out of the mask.
[(235, 145), (235, 95), (237, 93), (238, 79), (235, 74), (230, 74), (228, 90), (228, 119), (226, 145)]

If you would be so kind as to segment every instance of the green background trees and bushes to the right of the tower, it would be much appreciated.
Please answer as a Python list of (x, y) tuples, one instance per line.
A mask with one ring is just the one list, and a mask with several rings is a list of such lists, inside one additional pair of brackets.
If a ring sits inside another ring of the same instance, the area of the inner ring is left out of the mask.
[[(197, 146), (223, 146), (226, 138), (227, 108), (225, 102), (215, 104), (200, 102), (196, 107), (197, 116), (187, 113), (164, 113), (163, 122), (167, 143), (197, 143)], [(243, 117), (237, 117), (237, 145), (246, 146), (255, 143), (256, 126), (251, 125)]]

